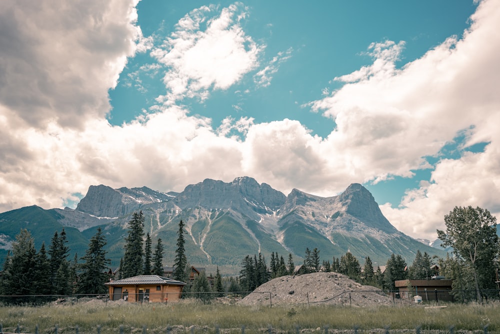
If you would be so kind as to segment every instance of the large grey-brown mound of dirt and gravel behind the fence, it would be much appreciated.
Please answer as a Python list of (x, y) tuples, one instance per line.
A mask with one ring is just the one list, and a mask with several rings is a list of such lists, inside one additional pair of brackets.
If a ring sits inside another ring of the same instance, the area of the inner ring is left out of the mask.
[(274, 278), (257, 287), (239, 303), (371, 306), (391, 305), (393, 301), (392, 296), (380, 289), (361, 285), (345, 275), (336, 272), (315, 272)]

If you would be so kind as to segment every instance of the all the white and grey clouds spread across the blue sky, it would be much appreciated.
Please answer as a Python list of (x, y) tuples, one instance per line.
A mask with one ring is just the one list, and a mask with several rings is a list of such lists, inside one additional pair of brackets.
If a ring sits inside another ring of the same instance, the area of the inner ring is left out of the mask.
[[(500, 6), (494, 0), (479, 4), (463, 36), (402, 68), (395, 62), (404, 42), (368, 46), (372, 65), (334, 78), (344, 85), (310, 103), (335, 120), (326, 138), (288, 119), (227, 118), (214, 130), (210, 119), (190, 116), (178, 104), (186, 97), (203, 101), (252, 73), (256, 86), (267, 87), (290, 56), (260, 65), (265, 46), (241, 28), (242, 4), (190, 12), (157, 47), (141, 36), (135, 5), (8, 0), (0, 7), (0, 211), (59, 207), (94, 184), (181, 191), (204, 178), (242, 175), (284, 193), (299, 188), (331, 196), (351, 182), (432, 168), (431, 179), (408, 190), (399, 207), (381, 206), (399, 230), (433, 238), (455, 205), (500, 213)], [(111, 126), (107, 91), (127, 57), (147, 50), (161, 66), (166, 94), (154, 113)], [(222, 63), (224, 71), (213, 71)], [(465, 135), (462, 155), (440, 159), (457, 134)], [(488, 144), (483, 152), (466, 152), (476, 143)]]

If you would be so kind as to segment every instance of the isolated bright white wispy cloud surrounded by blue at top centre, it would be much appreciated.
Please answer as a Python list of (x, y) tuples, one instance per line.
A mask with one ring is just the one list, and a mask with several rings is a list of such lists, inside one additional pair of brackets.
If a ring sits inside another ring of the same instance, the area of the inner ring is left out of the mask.
[[(172, 105), (185, 97), (203, 101), (210, 90), (225, 90), (258, 65), (258, 46), (240, 26), (246, 8), (236, 3), (214, 15), (214, 6), (184, 16), (176, 30), (151, 55), (166, 66), (167, 93), (157, 100)], [(202, 30), (202, 25), (206, 29)]]

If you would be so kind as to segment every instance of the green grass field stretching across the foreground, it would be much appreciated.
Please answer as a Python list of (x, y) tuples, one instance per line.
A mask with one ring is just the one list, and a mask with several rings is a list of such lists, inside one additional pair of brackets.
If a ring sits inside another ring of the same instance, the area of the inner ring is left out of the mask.
[[(2, 306), (3, 332), (53, 333), (263, 333), (273, 332), (425, 332), (476, 331), (500, 333), (500, 304), (447, 304), (339, 307), (339, 306), (239, 306), (181, 301), (171, 304), (134, 304), (89, 301), (73, 305)], [(76, 329), (76, 327), (78, 327)], [(375, 330), (380, 328), (380, 330)], [(275, 330), (275, 331), (274, 331)], [(1, 331), (0, 331), (1, 332)]]

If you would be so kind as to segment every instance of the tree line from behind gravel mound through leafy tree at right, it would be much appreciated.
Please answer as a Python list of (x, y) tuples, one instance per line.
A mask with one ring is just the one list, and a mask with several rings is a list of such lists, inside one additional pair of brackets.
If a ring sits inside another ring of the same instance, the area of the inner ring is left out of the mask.
[(448, 254), (444, 259), (437, 256), (431, 258), (427, 252), (422, 254), (417, 250), (413, 262), (408, 266), (401, 255), (391, 254), (382, 272), (380, 266), (376, 269), (373, 267), (368, 256), (364, 258), (361, 269), (361, 264), (350, 252), (340, 258), (333, 257), (331, 262), (320, 262), (319, 249), (306, 248), (303, 264), (295, 271), (291, 254), (288, 254), (286, 265), (282, 256), (271, 253), (269, 267), (262, 254), (258, 254), (258, 257), (247, 255), (241, 261), (240, 287), (244, 291), (252, 291), (260, 284), (283, 275), (334, 271), (366, 285), (395, 290), (396, 280), (430, 279), (440, 274), (452, 279), (452, 293), (458, 299), (470, 300), (470, 293), (463, 290), (474, 290), (475, 299), (481, 301), (481, 289), (498, 288), (500, 243), (496, 233), (496, 218), (488, 210), (468, 206), (455, 207), (445, 215), (444, 222), (446, 231), (437, 230), (437, 235), (442, 247), (452, 247), (452, 255)]

